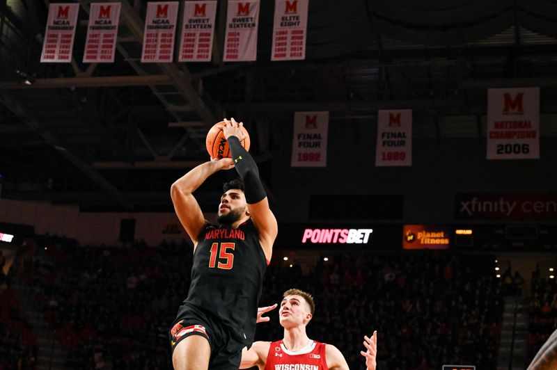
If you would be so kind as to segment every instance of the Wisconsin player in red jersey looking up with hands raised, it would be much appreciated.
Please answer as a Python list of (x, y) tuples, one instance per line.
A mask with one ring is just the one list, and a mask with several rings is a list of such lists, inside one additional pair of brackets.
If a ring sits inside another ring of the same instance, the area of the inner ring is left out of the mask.
[[(306, 334), (306, 326), (311, 321), (315, 309), (311, 294), (299, 289), (289, 289), (283, 296), (278, 317), (284, 328), (284, 338), (274, 342), (256, 341), (251, 348), (244, 348), (240, 369), (257, 366), (260, 370), (347, 370), (348, 364), (338, 348), (313, 341)], [(269, 317), (262, 314), (275, 307), (276, 305), (260, 308), (258, 322), (269, 321)], [(366, 336), (364, 339), (363, 345), (367, 351), (360, 353), (366, 357), (368, 370), (375, 370), (377, 332), (373, 332), (371, 338)]]

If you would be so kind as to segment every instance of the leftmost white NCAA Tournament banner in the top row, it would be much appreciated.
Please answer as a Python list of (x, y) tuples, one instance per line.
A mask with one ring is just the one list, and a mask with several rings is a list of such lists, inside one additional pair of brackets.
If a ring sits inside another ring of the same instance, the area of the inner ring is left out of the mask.
[(51, 3), (41, 63), (71, 62), (79, 3)]

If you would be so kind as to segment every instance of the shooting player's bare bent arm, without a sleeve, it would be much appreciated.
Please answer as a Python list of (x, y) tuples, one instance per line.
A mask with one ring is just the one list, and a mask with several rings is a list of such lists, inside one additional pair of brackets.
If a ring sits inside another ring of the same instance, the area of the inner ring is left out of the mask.
[(197, 238), (203, 225), (205, 225), (205, 218), (193, 193), (214, 172), (223, 169), (228, 170), (233, 167), (234, 165), (230, 158), (201, 163), (176, 180), (171, 186), (170, 194), (174, 210), (191, 241), (194, 242), (194, 246), (197, 246)]

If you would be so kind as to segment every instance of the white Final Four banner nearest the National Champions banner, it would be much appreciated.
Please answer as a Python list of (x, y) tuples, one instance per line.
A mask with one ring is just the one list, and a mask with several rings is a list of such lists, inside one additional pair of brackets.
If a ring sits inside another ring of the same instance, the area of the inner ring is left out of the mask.
[(377, 112), (375, 166), (412, 165), (412, 110)]

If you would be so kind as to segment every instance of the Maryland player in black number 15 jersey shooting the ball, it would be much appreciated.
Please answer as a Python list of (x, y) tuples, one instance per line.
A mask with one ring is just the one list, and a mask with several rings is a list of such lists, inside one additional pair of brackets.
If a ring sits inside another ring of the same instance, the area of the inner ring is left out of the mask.
[[(263, 275), (278, 227), (255, 161), (240, 144), (242, 122), (225, 120), (232, 159), (203, 163), (171, 188), (174, 209), (194, 242), (191, 284), (169, 332), (175, 369), (230, 369), (250, 348)], [(217, 222), (209, 223), (192, 193), (218, 170), (240, 179), (224, 185)]]

